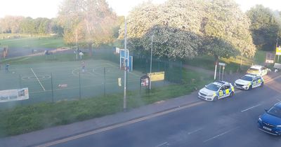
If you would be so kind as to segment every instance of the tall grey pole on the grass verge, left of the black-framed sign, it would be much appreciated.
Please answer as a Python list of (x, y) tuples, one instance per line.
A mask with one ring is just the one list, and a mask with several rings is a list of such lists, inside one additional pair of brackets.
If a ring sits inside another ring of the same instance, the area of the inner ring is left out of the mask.
[(127, 65), (126, 65), (126, 52), (127, 52), (127, 22), (126, 22), (126, 18), (125, 18), (125, 57), (124, 57), (124, 62), (123, 62), (123, 66), (124, 66), (124, 99), (123, 99), (123, 111), (126, 111), (126, 86), (127, 86)]

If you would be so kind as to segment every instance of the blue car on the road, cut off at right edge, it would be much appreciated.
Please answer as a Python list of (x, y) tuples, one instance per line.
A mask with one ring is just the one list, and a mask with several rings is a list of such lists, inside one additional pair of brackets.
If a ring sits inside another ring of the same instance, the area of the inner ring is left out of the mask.
[(281, 102), (275, 104), (258, 120), (259, 129), (273, 135), (281, 135)]

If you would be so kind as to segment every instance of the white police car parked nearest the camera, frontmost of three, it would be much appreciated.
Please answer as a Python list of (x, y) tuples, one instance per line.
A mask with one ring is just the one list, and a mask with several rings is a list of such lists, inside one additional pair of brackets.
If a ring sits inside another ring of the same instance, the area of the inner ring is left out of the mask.
[(198, 92), (198, 97), (206, 101), (215, 101), (224, 97), (232, 97), (233, 95), (233, 85), (225, 81), (209, 83)]

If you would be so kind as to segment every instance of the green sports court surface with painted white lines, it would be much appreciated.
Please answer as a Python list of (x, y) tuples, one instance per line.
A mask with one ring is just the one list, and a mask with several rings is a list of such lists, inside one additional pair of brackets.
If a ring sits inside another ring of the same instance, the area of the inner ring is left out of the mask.
[[(8, 73), (1, 65), (0, 90), (28, 87), (30, 94), (30, 99), (22, 102), (0, 103), (1, 108), (124, 92), (124, 71), (119, 64), (92, 59), (85, 62), (84, 72), (81, 61), (11, 64)], [(127, 90), (139, 90), (144, 74), (132, 71), (127, 75)], [(122, 78), (122, 86), (118, 85), (118, 78)]]

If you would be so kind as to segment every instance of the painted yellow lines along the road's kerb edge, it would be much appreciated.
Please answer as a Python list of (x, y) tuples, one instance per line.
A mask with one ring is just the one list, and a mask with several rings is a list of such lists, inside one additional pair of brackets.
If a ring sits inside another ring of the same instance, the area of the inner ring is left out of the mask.
[(148, 120), (150, 118), (155, 118), (157, 116), (163, 116), (163, 115), (165, 115), (167, 113), (172, 113), (174, 111), (180, 111), (182, 109), (188, 109), (188, 108), (190, 108), (192, 106), (197, 106), (197, 105), (203, 104), (203, 103), (205, 103), (205, 102), (204, 101), (195, 102), (195, 103), (192, 103), (192, 104), (188, 104), (186, 106), (177, 107), (175, 109), (170, 109), (168, 111), (162, 111), (162, 112), (159, 112), (159, 113), (152, 114), (150, 116), (145, 116), (143, 118), (138, 118), (136, 120), (130, 120), (130, 121), (125, 122), (125, 123), (120, 123), (120, 124), (117, 124), (117, 125), (112, 125), (110, 127), (104, 127), (102, 129), (94, 130), (92, 132), (86, 132), (86, 133), (83, 133), (83, 134), (78, 134), (78, 135), (73, 136), (73, 137), (67, 137), (65, 139), (60, 139), (58, 141), (53, 141), (53, 142), (50, 142), (50, 143), (47, 143), (47, 144), (42, 144), (42, 145), (39, 145), (37, 147), (53, 146), (55, 144), (60, 144), (60, 143), (66, 142), (66, 141), (71, 141), (71, 140), (74, 140), (74, 139), (79, 139), (81, 137), (87, 137), (87, 136), (92, 135), (92, 134), (97, 134), (97, 133), (105, 132), (105, 131), (112, 130), (112, 129), (115, 129), (115, 128), (118, 128), (118, 127), (123, 127), (123, 126), (126, 126), (126, 125), (131, 125), (133, 123), (138, 123), (138, 122), (141, 122), (143, 120)]

